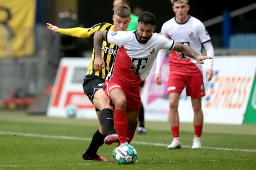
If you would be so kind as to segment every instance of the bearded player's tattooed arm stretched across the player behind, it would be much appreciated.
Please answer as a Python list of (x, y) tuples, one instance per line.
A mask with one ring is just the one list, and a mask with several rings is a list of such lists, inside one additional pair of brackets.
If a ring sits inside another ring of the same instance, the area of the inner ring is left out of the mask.
[(200, 64), (204, 64), (204, 62), (202, 62), (202, 60), (213, 59), (213, 57), (209, 57), (209, 56), (200, 56), (200, 55), (198, 55), (197, 52), (195, 52), (194, 49), (190, 48), (190, 46), (183, 45), (179, 42), (175, 43), (175, 46), (173, 49), (176, 50), (177, 52), (182, 52), (182, 53), (184, 53), (184, 55), (197, 60), (197, 63), (200, 63)]

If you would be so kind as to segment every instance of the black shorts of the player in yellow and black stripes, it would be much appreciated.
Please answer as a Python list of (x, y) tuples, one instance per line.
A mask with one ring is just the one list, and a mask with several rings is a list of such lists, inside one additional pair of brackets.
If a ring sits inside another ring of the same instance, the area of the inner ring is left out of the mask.
[[(93, 103), (93, 97), (95, 92), (102, 89), (104, 85), (104, 79), (95, 75), (86, 75), (84, 77), (83, 89), (84, 93), (87, 95), (88, 99)], [(98, 108), (95, 109), (99, 111)]]

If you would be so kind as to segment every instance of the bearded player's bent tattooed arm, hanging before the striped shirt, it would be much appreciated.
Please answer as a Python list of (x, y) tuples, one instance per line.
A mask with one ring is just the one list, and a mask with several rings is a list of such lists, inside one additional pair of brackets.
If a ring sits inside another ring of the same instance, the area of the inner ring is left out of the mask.
[(94, 45), (95, 60), (94, 60), (93, 67), (95, 71), (99, 71), (99, 72), (101, 72), (102, 68), (105, 67), (104, 60), (102, 59), (102, 56), (101, 56), (101, 46), (103, 41), (106, 41), (106, 32), (107, 32), (106, 30), (97, 31), (94, 34), (93, 45)]

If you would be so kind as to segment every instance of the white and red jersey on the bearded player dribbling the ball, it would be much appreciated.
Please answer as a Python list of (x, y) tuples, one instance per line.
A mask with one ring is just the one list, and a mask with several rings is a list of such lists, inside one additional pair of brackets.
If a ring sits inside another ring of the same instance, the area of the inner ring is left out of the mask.
[(108, 74), (110, 79), (138, 86), (150, 73), (160, 49), (171, 50), (175, 41), (153, 33), (147, 43), (141, 44), (136, 38), (137, 31), (108, 31), (106, 42), (119, 46), (115, 64)]

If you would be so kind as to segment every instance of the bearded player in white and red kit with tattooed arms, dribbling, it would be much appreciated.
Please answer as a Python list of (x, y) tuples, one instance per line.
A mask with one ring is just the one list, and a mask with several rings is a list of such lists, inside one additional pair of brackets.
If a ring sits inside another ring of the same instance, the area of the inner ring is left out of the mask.
[(187, 45), (153, 33), (154, 31), (155, 16), (150, 12), (143, 12), (138, 17), (137, 31), (97, 31), (94, 35), (96, 71), (105, 67), (101, 57), (102, 42), (119, 46), (115, 64), (105, 79), (104, 91), (111, 99), (111, 106), (115, 106), (114, 124), (120, 144), (128, 143), (126, 137), (130, 141), (133, 139), (140, 110), (140, 83), (150, 73), (160, 49), (183, 52), (201, 64), (204, 63), (202, 60), (211, 59), (198, 55)]

